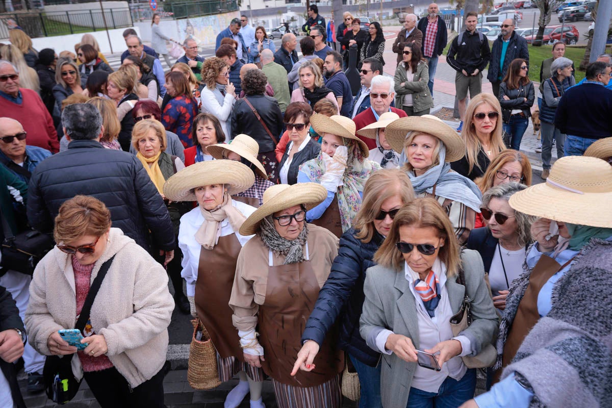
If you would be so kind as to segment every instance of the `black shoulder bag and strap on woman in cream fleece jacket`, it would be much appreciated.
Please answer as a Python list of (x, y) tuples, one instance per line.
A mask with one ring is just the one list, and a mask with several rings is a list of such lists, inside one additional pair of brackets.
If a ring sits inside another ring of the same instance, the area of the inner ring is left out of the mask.
[[(95, 276), (94, 282), (91, 284), (91, 287), (89, 287), (89, 292), (83, 303), (81, 314), (75, 325), (75, 328), (78, 328), (81, 332), (83, 332), (83, 328), (85, 328), (85, 324), (89, 320), (91, 305), (94, 303), (95, 295), (98, 293), (104, 276), (106, 276), (106, 272), (108, 272), (108, 269), (113, 263), (113, 259), (114, 255), (113, 258), (102, 264), (98, 275)], [(48, 355), (45, 360), (45, 368), (43, 368), (42, 374), (45, 380), (45, 391), (47, 392), (47, 397), (57, 404), (63, 405), (69, 402), (70, 399), (74, 398), (76, 391), (78, 391), (78, 387), (81, 385), (81, 381), (77, 380), (72, 373), (73, 357), (74, 354), (64, 355), (63, 357), (59, 357), (59, 355)]]

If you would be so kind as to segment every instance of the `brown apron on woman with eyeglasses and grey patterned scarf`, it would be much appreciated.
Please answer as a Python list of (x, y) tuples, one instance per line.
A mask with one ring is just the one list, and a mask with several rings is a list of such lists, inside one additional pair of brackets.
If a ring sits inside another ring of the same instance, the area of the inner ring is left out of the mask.
[[(308, 243), (306, 244), (308, 247)], [(333, 379), (344, 366), (343, 354), (337, 345), (335, 330), (327, 333), (315, 357), (315, 369), (289, 373), (302, 348), (302, 333), (319, 295), (319, 283), (306, 249), (306, 261), (272, 266), (269, 252), (266, 299), (259, 306), (259, 343), (264, 347), (261, 368), (282, 384), (293, 387), (314, 387)]]

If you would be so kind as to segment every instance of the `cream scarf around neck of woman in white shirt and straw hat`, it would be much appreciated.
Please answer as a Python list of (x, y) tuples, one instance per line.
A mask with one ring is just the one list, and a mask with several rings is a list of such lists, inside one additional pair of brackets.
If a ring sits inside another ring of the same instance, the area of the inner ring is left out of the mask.
[(221, 233), (221, 221), (228, 219), (231, 228), (238, 231), (247, 218), (231, 204), (231, 197), (223, 193), (223, 202), (214, 210), (206, 210), (200, 206), (204, 222), (195, 233), (195, 240), (205, 250), (212, 250), (217, 245)]

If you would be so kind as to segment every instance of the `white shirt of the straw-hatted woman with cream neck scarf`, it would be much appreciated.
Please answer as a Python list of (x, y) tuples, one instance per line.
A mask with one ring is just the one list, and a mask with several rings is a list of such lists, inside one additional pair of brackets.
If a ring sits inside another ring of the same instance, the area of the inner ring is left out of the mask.
[[(232, 200), (231, 203), (247, 218), (255, 212), (254, 207), (248, 206), (244, 204), (244, 202)], [(179, 248), (181, 248), (183, 253), (183, 260), (181, 262), (183, 270), (181, 276), (187, 281), (187, 296), (195, 295), (195, 283), (198, 280), (198, 266), (200, 264), (200, 251), (202, 248), (202, 245), (195, 240), (195, 233), (203, 222), (204, 216), (198, 206), (181, 217), (181, 225), (179, 226)], [(221, 221), (220, 224), (221, 231), (219, 236), (225, 237), (230, 234), (236, 234), (236, 238), (243, 247), (244, 244), (253, 237), (252, 235), (242, 236), (237, 231), (234, 231), (227, 218)], [(214, 249), (212, 249), (212, 251), (214, 251)]]

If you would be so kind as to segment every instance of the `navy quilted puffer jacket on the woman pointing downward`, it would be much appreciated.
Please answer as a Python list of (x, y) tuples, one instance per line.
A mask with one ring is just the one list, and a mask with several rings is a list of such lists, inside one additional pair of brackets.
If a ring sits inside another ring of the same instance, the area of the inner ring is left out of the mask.
[(327, 331), (340, 316), (340, 348), (360, 362), (374, 367), (379, 354), (370, 349), (359, 334), (359, 318), (365, 300), (365, 270), (376, 265), (372, 258), (383, 244), (383, 236), (375, 231), (370, 242), (363, 243), (354, 234), (356, 231), (351, 228), (340, 237), (338, 256), (319, 291), (315, 308), (302, 334), (302, 343), (314, 340), (322, 344)]

